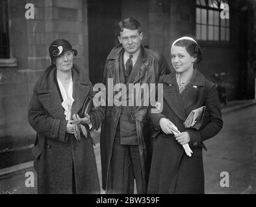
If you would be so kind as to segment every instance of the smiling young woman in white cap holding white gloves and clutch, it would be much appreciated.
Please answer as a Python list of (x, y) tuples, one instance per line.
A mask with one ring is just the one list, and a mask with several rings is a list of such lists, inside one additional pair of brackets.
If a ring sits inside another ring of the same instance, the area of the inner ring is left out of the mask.
[[(156, 134), (148, 193), (204, 193), (203, 141), (216, 135), (223, 124), (218, 93), (195, 67), (202, 59), (196, 40), (175, 40), (171, 56), (175, 72), (159, 79), (164, 89), (162, 113), (151, 114)], [(199, 130), (185, 128), (188, 114), (203, 105), (207, 124)], [(186, 155), (184, 144), (189, 144), (192, 157)]]

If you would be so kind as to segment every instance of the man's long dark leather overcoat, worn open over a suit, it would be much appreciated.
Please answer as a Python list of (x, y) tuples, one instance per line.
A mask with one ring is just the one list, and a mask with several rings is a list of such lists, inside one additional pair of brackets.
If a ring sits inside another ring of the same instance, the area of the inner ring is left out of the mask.
[[(116, 83), (124, 83), (124, 76), (120, 75), (120, 58), (122, 56), (122, 52), (122, 45), (117, 45), (111, 50), (109, 56), (107, 57), (103, 78), (103, 83), (105, 83), (107, 88), (109, 78), (113, 79), (114, 85), (116, 85)], [(143, 83), (157, 83), (160, 75), (163, 75), (169, 71), (170, 69), (166, 63), (166, 60), (160, 56), (160, 54), (141, 47), (140, 56), (138, 57), (138, 60), (136, 61), (136, 64), (134, 65), (129, 80), (126, 84), (138, 83), (142, 85)], [(144, 100), (142, 98), (142, 103), (143, 101)], [(104, 190), (107, 190), (107, 183), (110, 182), (109, 179), (112, 179), (109, 176), (109, 171), (111, 168), (110, 160), (121, 109), (122, 107), (116, 105), (105, 107), (105, 119), (103, 120), (101, 126), (101, 171)], [(147, 188), (152, 154), (150, 139), (151, 125), (149, 124), (147, 109), (148, 107), (144, 106), (134, 106), (136, 133), (138, 138), (138, 148), (140, 151), (140, 162), (142, 165), (142, 177), (145, 191)]]

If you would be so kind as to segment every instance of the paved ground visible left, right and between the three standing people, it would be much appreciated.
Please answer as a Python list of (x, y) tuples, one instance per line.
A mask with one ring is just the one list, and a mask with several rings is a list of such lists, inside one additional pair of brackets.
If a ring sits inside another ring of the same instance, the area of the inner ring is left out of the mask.
[[(256, 101), (231, 102), (222, 113), (224, 128), (205, 142), (208, 148), (203, 156), (205, 193), (256, 193)], [(94, 133), (96, 139), (99, 132)], [(95, 154), (101, 180), (99, 144), (95, 147)], [(30, 171), (34, 173), (34, 186), (26, 187), (26, 181), (31, 181), (27, 180), (31, 177), (26, 177)], [(224, 177), (221, 173), (225, 174)], [(229, 187), (222, 187), (222, 183)], [(34, 194), (36, 191), (36, 172), (32, 162), (0, 169), (0, 194)]]

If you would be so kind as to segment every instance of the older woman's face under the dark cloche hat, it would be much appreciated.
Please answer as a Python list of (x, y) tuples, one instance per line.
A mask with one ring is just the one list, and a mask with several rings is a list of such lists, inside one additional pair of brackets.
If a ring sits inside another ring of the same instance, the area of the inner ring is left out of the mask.
[(62, 72), (70, 71), (73, 67), (74, 54), (72, 51), (66, 51), (62, 56), (55, 60), (57, 70)]

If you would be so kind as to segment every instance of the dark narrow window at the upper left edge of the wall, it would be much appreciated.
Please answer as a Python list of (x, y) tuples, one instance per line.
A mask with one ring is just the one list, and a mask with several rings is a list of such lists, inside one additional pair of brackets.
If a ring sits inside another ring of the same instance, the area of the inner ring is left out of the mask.
[(9, 57), (7, 0), (0, 1), (0, 58)]

